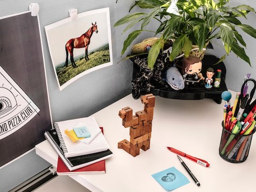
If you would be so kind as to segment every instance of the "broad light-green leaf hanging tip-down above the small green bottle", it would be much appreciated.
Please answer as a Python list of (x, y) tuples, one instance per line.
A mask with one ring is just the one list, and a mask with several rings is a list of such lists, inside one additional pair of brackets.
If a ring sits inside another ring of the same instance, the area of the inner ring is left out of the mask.
[(225, 46), (226, 53), (229, 54), (234, 40), (234, 33), (232, 28), (226, 23), (221, 23), (220, 25), (220, 37)]

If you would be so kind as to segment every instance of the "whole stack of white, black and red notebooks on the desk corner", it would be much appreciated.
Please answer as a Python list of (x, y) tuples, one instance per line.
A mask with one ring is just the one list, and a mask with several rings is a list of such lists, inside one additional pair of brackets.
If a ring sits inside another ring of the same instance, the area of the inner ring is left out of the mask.
[[(92, 135), (94, 138), (91, 138), (89, 144), (82, 140), (72, 142), (64, 133), (66, 129), (71, 129), (81, 122), (99, 130), (98, 133), (97, 131), (91, 132), (96, 135)], [(98, 126), (94, 117), (57, 122), (54, 123), (54, 127), (55, 129), (46, 131), (44, 135), (59, 155), (58, 175), (106, 172), (105, 159), (111, 157), (112, 152), (103, 136), (103, 128)], [(68, 169), (63, 165), (66, 165)]]

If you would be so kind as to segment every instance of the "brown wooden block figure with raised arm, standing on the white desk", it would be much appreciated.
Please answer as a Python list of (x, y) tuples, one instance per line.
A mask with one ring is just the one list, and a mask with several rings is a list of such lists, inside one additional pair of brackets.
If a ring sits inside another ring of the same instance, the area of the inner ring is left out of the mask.
[(130, 142), (124, 139), (118, 142), (118, 148), (124, 149), (133, 157), (140, 154), (140, 149), (150, 148), (152, 120), (155, 107), (155, 96), (146, 94), (141, 96), (141, 102), (145, 105), (144, 110), (137, 111), (132, 115), (132, 109), (125, 107), (119, 111), (119, 117), (123, 119), (123, 126), (130, 127)]

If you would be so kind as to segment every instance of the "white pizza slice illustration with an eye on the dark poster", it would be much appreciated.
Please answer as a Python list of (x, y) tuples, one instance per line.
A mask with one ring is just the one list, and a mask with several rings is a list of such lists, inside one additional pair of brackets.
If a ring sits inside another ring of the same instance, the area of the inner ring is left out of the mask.
[(33, 119), (40, 109), (0, 66), (0, 140)]

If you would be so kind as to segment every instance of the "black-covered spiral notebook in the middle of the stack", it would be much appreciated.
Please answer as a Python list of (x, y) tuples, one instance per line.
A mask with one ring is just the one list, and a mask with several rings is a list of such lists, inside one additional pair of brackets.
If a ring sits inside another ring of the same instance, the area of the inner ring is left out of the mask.
[[(103, 130), (102, 130), (103, 131)], [(63, 163), (68, 167), (70, 171), (74, 171), (76, 169), (82, 168), (84, 166), (88, 166), (102, 160), (105, 160), (113, 155), (113, 153), (108, 149), (99, 153), (82, 155), (76, 157), (65, 157), (63, 150), (60, 148), (60, 141), (57, 135), (56, 130), (49, 130), (44, 133), (45, 138), (54, 150), (57, 152)]]

